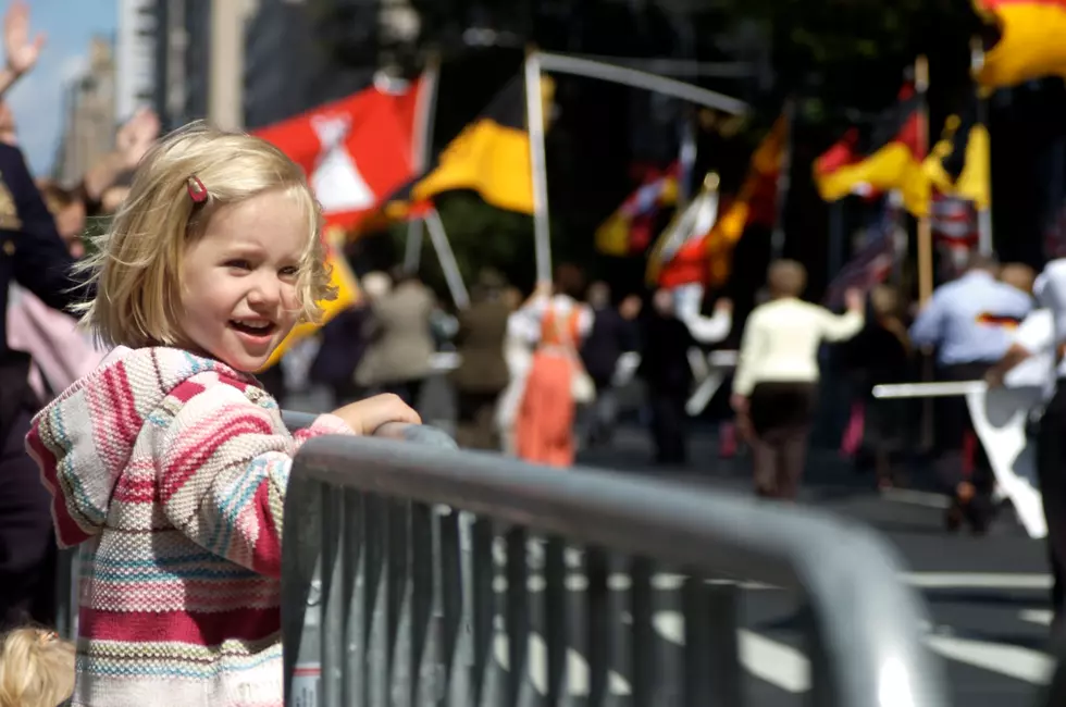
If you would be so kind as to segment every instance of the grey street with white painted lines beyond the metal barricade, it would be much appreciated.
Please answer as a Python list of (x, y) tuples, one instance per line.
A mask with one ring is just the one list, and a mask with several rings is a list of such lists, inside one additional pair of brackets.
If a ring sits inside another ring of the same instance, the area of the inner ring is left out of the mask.
[[(309, 407), (311, 401), (290, 407)], [(442, 417), (426, 415), (429, 421)], [(685, 469), (655, 469), (647, 459), (646, 434), (627, 426), (609, 449), (581, 456), (581, 463), (633, 473), (657, 474), (671, 480), (712, 487), (746, 491), (744, 460), (717, 457), (709, 431), (696, 436), (692, 462)], [(914, 480), (921, 485), (920, 479)], [(928, 645), (945, 660), (952, 704), (966, 707), (1034, 705), (1040, 685), (1050, 675), (1052, 661), (1044, 653), (1050, 576), (1040, 542), (1030, 541), (1009, 513), (1004, 513), (986, 537), (967, 533), (950, 535), (941, 523), (943, 499), (921, 492), (882, 496), (871, 475), (854, 473), (830, 452), (815, 452), (805, 479), (803, 503), (868, 523), (901, 551), (908, 572), (901, 579), (919, 590), (928, 603), (932, 625)], [(535, 548), (530, 553), (536, 571)], [(581, 557), (570, 553), (577, 569)], [(580, 575), (579, 575), (580, 576)], [(624, 586), (625, 578), (612, 582)], [(677, 578), (658, 576), (655, 629), (661, 649), (677, 646), (683, 619), (675, 590)], [(809, 663), (796, 629), (796, 597), (779, 590), (743, 591), (740, 632), (741, 661), (747, 673), (747, 694), (754, 705), (777, 707), (802, 704), (809, 689)], [(579, 603), (580, 604), (580, 603)], [(580, 612), (580, 606), (577, 607)], [(580, 616), (574, 616), (578, 627)], [(534, 616), (534, 628), (543, 628)], [(506, 667), (506, 638), (497, 640), (496, 656)], [(583, 645), (575, 635), (574, 645)], [(618, 704), (625, 704), (629, 670), (625, 637), (616, 647), (610, 685)], [(535, 634), (531, 644), (530, 677), (535, 686), (545, 683), (544, 644)], [(571, 650), (571, 693), (580, 704), (587, 694), (588, 666), (580, 650)]]

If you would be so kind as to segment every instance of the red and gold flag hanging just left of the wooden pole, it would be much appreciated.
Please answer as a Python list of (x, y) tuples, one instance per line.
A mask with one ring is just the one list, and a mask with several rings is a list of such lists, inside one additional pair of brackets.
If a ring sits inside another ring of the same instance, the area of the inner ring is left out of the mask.
[(910, 86), (900, 92), (895, 106), (877, 120), (866, 140), (858, 131), (815, 160), (818, 194), (826, 201), (848, 195), (869, 196), (898, 190), (907, 210), (920, 213), (928, 203), (921, 173), (921, 100)]

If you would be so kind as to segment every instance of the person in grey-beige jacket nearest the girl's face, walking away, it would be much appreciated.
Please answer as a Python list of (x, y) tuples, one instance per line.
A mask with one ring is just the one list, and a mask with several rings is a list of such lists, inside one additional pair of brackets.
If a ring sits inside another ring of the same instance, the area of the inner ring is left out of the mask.
[(356, 372), (359, 385), (377, 386), (418, 407), (422, 384), (433, 370), (434, 300), (416, 275), (394, 273), (392, 290), (373, 301), (375, 330)]

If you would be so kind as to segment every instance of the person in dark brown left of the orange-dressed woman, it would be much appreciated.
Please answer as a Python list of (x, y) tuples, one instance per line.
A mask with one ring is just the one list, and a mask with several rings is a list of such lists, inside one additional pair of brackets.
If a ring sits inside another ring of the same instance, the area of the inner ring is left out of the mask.
[(510, 382), (504, 338), (511, 308), (504, 296), (505, 287), (499, 273), (482, 271), (471, 293), (470, 308), (459, 312), (455, 343), (460, 360), (450, 377), (456, 389), (460, 447), (499, 450), (496, 402)]

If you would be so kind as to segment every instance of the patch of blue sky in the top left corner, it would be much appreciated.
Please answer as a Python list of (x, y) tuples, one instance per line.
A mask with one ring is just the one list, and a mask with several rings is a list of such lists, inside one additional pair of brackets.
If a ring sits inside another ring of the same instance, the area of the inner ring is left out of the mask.
[[(94, 35), (113, 38), (116, 0), (29, 0), (30, 30), (47, 40), (37, 67), (9, 96), (18, 139), (35, 174), (55, 159), (63, 128), (63, 87), (85, 66)], [(10, 0), (0, 0), (7, 11)]]

